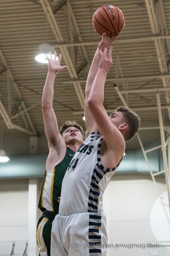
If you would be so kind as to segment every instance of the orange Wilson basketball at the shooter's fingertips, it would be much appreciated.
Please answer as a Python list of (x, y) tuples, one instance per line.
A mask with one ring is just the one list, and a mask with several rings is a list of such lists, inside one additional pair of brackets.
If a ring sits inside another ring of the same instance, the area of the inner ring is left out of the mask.
[(99, 35), (106, 37), (117, 35), (125, 26), (123, 12), (114, 5), (103, 5), (93, 14), (92, 24)]

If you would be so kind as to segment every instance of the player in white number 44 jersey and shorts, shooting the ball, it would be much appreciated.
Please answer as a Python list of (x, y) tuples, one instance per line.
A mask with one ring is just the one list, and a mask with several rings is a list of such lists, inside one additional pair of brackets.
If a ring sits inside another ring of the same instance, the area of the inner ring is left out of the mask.
[(88, 74), (85, 90), (88, 137), (63, 178), (59, 214), (51, 230), (51, 256), (106, 255), (102, 195), (123, 158), (125, 141), (136, 134), (140, 125), (139, 117), (129, 108), (119, 107), (108, 116), (103, 106), (106, 76), (112, 66), (113, 47), (109, 53), (107, 47), (117, 38), (106, 41), (103, 34)]

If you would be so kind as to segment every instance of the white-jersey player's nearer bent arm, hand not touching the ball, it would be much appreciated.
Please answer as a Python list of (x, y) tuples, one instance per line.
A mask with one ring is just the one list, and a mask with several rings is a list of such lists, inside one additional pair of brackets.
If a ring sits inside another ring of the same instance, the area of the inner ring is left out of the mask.
[[(118, 124), (113, 124), (114, 122), (110, 120), (111, 117), (108, 116), (103, 106), (106, 76), (112, 66), (112, 49), (113, 47), (111, 46), (108, 54), (107, 48), (105, 48), (104, 53), (100, 51), (101, 61), (88, 98), (89, 111), (100, 133), (104, 136), (103, 141), (105, 143), (105, 155), (107, 159), (107, 166), (105, 167), (107, 168), (115, 167), (121, 160), (125, 150), (125, 140), (120, 132), (122, 128), (119, 126), (119, 122)], [(123, 124), (121, 123), (121, 125)]]

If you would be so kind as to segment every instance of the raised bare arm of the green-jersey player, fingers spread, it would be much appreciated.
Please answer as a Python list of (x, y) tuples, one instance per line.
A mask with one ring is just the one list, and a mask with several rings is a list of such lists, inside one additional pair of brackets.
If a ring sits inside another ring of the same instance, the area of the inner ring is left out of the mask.
[[(51, 155), (50, 152), (52, 148), (55, 148), (55, 150), (57, 150), (57, 147), (59, 147), (59, 142), (60, 140), (62, 140), (62, 137), (58, 131), (57, 119), (52, 107), (54, 79), (56, 74), (59, 71), (67, 67), (60, 66), (61, 54), (59, 55), (58, 60), (56, 60), (56, 56), (57, 56), (56, 52), (54, 52), (54, 59), (52, 59), (51, 52), (49, 52), (49, 54), (50, 54), (50, 58), (48, 58), (47, 55), (45, 54), (48, 60), (48, 72), (47, 72), (46, 81), (45, 81), (45, 85), (42, 93), (42, 111), (43, 111), (45, 134), (48, 140), (49, 157), (50, 157)], [(64, 142), (62, 143), (64, 145)]]

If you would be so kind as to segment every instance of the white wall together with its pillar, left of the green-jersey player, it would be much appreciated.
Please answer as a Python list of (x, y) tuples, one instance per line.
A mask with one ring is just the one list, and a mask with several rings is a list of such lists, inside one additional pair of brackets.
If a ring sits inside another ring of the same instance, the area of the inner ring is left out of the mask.
[(41, 184), (42, 179), (0, 180), (0, 255), (9, 256), (13, 243), (15, 256), (23, 255), (28, 241), (28, 255), (38, 255), (36, 225), (41, 216), (37, 208)]

